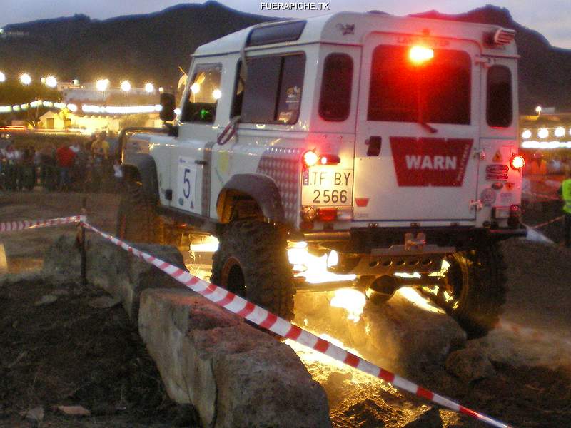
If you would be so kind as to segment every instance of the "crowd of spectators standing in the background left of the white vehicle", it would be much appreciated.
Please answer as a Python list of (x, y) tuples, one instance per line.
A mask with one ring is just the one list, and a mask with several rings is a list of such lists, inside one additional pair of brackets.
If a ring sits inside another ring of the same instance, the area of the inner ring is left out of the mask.
[(40, 185), (49, 191), (116, 190), (121, 169), (105, 131), (86, 143), (75, 141), (56, 148), (0, 146), (0, 190), (31, 191)]

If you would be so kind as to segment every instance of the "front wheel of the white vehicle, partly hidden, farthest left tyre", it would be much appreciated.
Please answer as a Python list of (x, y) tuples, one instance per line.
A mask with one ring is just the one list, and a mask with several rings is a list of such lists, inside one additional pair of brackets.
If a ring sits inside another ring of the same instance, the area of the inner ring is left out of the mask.
[(161, 222), (156, 203), (140, 184), (129, 183), (117, 211), (117, 236), (133, 243), (161, 243)]

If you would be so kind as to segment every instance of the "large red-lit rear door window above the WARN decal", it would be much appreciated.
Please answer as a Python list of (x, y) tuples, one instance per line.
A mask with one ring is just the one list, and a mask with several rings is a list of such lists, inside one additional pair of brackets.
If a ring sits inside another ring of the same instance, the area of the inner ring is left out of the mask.
[(373, 51), (369, 121), (470, 124), (470, 55), (434, 49), (415, 64), (410, 46), (380, 45)]

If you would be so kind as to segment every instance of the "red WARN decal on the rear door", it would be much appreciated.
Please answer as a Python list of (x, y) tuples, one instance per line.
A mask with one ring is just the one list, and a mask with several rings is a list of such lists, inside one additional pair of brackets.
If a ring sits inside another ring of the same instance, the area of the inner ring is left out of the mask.
[(398, 185), (460, 187), (472, 143), (468, 138), (391, 137)]

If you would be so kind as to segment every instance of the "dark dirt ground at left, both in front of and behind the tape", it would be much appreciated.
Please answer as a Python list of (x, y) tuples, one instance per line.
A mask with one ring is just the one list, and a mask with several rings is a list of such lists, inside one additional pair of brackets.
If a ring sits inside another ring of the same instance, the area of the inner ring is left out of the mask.
[[(0, 221), (58, 218), (80, 212), (76, 193), (6, 193), (0, 196)], [(92, 223), (113, 231), (116, 195), (89, 195)], [(8, 233), (1, 237), (16, 280), (0, 289), (0, 427), (198, 427), (190, 407), (166, 394), (156, 365), (148, 356), (121, 307), (89, 305), (105, 293), (79, 282), (42, 280), (34, 274), (42, 258), (73, 225)], [(51, 304), (36, 305), (54, 295)], [(91, 417), (70, 417), (58, 405), (81, 405)], [(22, 412), (42, 407), (40, 424)]]

